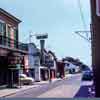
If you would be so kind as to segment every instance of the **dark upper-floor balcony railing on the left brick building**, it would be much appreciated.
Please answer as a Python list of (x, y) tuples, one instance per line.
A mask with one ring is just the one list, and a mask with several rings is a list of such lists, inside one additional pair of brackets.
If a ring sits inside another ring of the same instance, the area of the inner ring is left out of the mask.
[(17, 49), (21, 51), (28, 51), (28, 46), (24, 43), (10, 39), (6, 36), (0, 35), (0, 45), (10, 49)]

